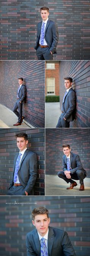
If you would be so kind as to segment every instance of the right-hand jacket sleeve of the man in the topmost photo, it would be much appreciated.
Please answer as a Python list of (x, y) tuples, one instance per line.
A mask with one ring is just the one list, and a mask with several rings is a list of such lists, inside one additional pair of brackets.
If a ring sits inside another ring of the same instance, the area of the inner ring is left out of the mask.
[(55, 50), (56, 50), (56, 47), (57, 47), (57, 44), (58, 44), (58, 38), (59, 38), (59, 36), (58, 36), (58, 26), (55, 23), (53, 23), (53, 25), (52, 25), (52, 34), (53, 34), (53, 42), (52, 42), (51, 47), (50, 47), (49, 50), (54, 53)]

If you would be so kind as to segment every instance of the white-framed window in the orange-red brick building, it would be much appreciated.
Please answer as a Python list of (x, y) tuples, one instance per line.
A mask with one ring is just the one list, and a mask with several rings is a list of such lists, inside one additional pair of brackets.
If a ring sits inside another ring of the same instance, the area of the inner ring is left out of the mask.
[(47, 95), (55, 95), (55, 78), (47, 78)]

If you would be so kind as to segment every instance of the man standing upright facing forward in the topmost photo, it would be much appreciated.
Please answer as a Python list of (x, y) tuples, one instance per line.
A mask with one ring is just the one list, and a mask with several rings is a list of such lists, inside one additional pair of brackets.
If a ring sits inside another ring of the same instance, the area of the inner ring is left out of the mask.
[(37, 41), (34, 49), (38, 60), (53, 60), (58, 44), (58, 27), (54, 21), (48, 20), (49, 8), (40, 8), (42, 21), (37, 27)]

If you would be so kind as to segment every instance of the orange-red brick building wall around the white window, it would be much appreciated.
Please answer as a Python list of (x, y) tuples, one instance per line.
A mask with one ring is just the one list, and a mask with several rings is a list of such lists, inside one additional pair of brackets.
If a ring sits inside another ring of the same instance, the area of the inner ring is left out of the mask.
[[(47, 63), (47, 62), (46, 62)], [(59, 63), (55, 62), (55, 69), (47, 69), (45, 71), (45, 78), (55, 78), (55, 95), (59, 95)], [(45, 83), (45, 94), (47, 95), (47, 81)]]

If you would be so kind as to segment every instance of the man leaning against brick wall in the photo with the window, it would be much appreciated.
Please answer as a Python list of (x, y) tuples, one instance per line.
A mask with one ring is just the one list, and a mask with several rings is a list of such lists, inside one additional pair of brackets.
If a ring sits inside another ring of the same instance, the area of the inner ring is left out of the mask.
[(63, 97), (62, 103), (62, 113), (59, 117), (58, 124), (56, 128), (69, 128), (70, 122), (74, 120), (75, 117), (75, 108), (76, 108), (76, 93), (72, 89), (72, 78), (64, 78), (64, 86), (66, 92)]

